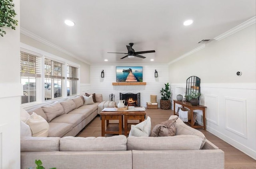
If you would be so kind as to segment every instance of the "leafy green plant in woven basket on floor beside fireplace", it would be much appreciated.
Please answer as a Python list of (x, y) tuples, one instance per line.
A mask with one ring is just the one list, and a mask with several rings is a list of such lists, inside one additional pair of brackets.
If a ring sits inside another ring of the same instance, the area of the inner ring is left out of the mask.
[(169, 88), (170, 86), (169, 83), (164, 85), (165, 85), (165, 89), (162, 88), (162, 90), (160, 90), (160, 93), (162, 95), (160, 100), (160, 108), (167, 110), (167, 109), (170, 109), (170, 106), (171, 106), (171, 102), (170, 102), (171, 92)]

